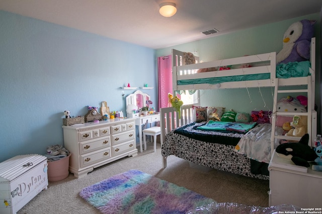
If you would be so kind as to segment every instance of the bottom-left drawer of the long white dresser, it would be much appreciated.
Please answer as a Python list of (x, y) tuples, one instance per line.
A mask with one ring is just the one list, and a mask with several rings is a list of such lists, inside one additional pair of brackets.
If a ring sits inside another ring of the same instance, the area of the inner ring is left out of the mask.
[(100, 162), (111, 157), (111, 147), (81, 155), (81, 167)]

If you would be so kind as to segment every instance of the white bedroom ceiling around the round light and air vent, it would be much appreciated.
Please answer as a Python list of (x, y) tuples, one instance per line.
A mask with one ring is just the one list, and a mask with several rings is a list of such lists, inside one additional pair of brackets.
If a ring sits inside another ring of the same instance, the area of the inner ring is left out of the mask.
[[(176, 3), (177, 14), (161, 16), (163, 2)], [(153, 49), (319, 13), (321, 6), (321, 0), (0, 0), (3, 11)], [(213, 28), (219, 32), (201, 33)]]

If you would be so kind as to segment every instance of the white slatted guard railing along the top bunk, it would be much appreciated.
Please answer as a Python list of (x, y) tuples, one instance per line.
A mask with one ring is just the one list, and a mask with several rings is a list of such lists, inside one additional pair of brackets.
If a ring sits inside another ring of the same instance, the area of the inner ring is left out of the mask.
[[(190, 65), (179, 65), (183, 57), (183, 52), (173, 49), (173, 89), (174, 90), (194, 90), (194, 89), (216, 89), (216, 88), (252, 88), (252, 87), (272, 87), (272, 79), (276, 78), (276, 53), (258, 54), (252, 56), (237, 57), (232, 59), (216, 60), (212, 62), (204, 62)], [(251, 64), (251, 67), (242, 68), (242, 65)], [(272, 65), (272, 66), (271, 66)], [(230, 70), (209, 71), (197, 73), (198, 69), (216, 68), (223, 66), (231, 66)], [(270, 74), (270, 78), (265, 80), (247, 80), (238, 82), (223, 82), (220, 84), (184, 84), (177, 85), (177, 81), (207, 79), (213, 77), (227, 77), (239, 75), (254, 75), (254, 74)]]

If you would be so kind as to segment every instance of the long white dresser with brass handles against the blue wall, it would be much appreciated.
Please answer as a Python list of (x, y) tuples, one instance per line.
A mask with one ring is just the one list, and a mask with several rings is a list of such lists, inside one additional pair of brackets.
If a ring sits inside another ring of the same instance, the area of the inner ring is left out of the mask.
[(77, 178), (122, 157), (137, 155), (135, 118), (115, 118), (62, 128), (64, 146), (71, 153), (69, 171)]

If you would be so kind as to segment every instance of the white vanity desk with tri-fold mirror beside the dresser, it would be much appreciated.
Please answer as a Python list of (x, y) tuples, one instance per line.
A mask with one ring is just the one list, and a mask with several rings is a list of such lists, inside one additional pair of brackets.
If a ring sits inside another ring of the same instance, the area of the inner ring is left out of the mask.
[[(126, 97), (126, 106), (134, 105), (137, 109), (146, 106), (146, 102), (150, 100), (150, 96), (146, 93), (141, 92), (140, 90), (135, 91), (133, 94), (130, 94)], [(132, 109), (130, 109), (132, 110)], [(131, 116), (130, 116), (131, 115)], [(139, 141), (140, 141), (140, 152), (142, 152), (142, 125), (147, 123), (153, 123), (160, 121), (160, 115), (158, 112), (155, 114), (148, 114), (148, 115), (139, 115), (139, 114), (129, 114), (127, 112), (128, 117), (135, 118), (135, 125), (138, 126), (139, 131)]]

